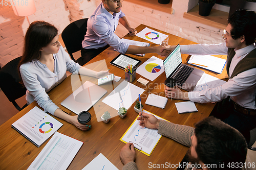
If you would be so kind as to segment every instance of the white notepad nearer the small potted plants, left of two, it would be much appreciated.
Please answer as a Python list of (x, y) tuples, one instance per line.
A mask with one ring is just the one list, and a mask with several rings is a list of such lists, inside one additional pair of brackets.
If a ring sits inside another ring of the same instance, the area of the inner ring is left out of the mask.
[(168, 99), (163, 96), (156, 95), (156, 94), (150, 94), (150, 95), (148, 95), (145, 104), (160, 107), (163, 109), (163, 108), (165, 108), (167, 101), (168, 101)]

